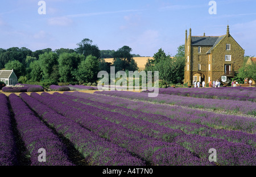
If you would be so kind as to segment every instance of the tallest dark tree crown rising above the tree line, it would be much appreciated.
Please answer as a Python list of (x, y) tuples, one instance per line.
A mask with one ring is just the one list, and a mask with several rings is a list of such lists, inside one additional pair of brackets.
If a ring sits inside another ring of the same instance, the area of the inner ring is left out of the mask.
[(85, 57), (92, 55), (96, 58), (101, 57), (100, 49), (98, 49), (97, 45), (92, 45), (92, 40), (86, 38), (83, 39), (80, 43), (77, 43), (79, 47), (76, 48), (76, 52), (79, 54), (84, 54)]

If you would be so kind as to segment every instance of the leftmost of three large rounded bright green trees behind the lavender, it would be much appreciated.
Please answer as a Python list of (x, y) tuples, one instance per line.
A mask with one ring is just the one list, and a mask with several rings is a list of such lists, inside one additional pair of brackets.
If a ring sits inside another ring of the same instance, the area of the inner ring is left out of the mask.
[(56, 53), (53, 52), (45, 52), (39, 55), (39, 63), (40, 68), (43, 71), (43, 78), (51, 79), (51, 74), (53, 73), (53, 66), (58, 65), (58, 56)]

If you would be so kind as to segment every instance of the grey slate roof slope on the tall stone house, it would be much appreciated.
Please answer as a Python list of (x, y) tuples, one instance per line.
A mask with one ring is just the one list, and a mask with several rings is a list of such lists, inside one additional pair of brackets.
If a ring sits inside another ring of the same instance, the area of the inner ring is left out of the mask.
[(191, 45), (213, 46), (219, 36), (191, 36)]

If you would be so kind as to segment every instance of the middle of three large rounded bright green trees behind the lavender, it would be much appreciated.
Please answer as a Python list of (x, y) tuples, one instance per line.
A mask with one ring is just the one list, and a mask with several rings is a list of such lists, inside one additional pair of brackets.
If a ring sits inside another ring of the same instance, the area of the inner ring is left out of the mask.
[[(73, 53), (62, 53), (59, 56), (60, 82), (71, 82), (71, 71), (76, 69), (80, 62), (84, 60), (84, 55)], [(97, 60), (97, 59), (96, 59)]]

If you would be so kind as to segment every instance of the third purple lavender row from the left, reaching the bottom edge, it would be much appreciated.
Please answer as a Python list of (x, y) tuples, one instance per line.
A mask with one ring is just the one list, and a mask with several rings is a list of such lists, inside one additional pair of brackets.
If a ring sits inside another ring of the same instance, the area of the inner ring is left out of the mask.
[(52, 128), (68, 138), (75, 148), (84, 155), (89, 165), (144, 165), (141, 159), (133, 157), (125, 149), (82, 128), (79, 124), (53, 111), (31, 96), (27, 94), (20, 94), (20, 96)]

